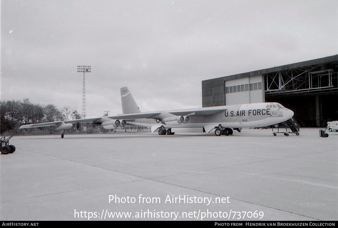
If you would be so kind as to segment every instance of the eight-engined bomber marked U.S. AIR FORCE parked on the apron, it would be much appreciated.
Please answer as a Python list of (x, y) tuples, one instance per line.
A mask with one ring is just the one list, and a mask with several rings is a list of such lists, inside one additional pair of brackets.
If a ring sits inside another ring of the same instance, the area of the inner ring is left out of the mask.
[(22, 125), (19, 129), (55, 126), (64, 131), (79, 123), (94, 123), (104, 129), (116, 129), (133, 124), (150, 127), (151, 132), (158, 130), (159, 135), (172, 135), (172, 128), (202, 128), (203, 132), (214, 131), (215, 135), (231, 135), (233, 130), (263, 127), (278, 124), (293, 117), (293, 111), (275, 102), (225, 105), (203, 108), (189, 108), (166, 111), (141, 112), (127, 87), (121, 88), (121, 115), (78, 120), (55, 121), (40, 124)]

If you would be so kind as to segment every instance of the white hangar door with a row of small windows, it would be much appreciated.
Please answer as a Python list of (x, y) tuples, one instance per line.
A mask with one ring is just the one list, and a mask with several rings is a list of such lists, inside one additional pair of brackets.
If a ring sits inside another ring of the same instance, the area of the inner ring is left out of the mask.
[(265, 102), (262, 85), (262, 75), (225, 80), (225, 105)]

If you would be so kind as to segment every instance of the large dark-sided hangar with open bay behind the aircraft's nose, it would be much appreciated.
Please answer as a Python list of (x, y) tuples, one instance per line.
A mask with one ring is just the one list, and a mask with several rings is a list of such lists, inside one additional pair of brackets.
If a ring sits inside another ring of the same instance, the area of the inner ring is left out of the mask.
[(279, 102), (303, 127), (338, 120), (338, 55), (202, 81), (202, 106)]

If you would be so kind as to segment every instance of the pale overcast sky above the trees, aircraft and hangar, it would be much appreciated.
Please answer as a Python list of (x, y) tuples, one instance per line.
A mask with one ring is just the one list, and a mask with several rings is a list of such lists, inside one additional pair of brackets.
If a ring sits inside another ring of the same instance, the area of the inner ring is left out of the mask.
[(1, 100), (201, 107), (201, 81), (338, 54), (338, 1), (1, 0)]

